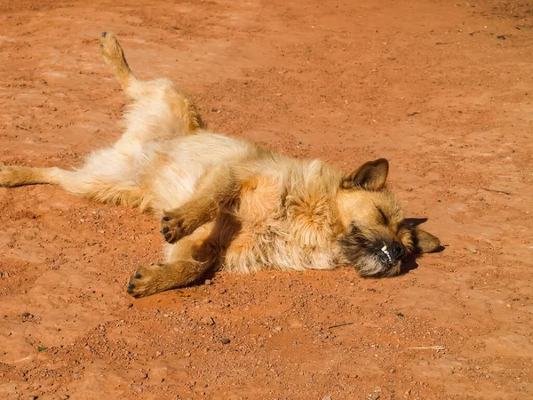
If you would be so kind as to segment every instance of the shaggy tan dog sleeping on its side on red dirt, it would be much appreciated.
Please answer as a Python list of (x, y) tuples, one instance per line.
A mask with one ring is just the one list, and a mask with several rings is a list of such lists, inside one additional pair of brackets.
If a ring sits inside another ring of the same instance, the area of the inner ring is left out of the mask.
[(143, 82), (111, 33), (100, 52), (131, 103), (112, 148), (74, 171), (0, 167), (0, 186), (55, 184), (75, 196), (139, 207), (161, 220), (165, 261), (140, 267), (127, 292), (142, 297), (193, 284), (208, 272), (250, 273), (353, 266), (395, 276), (408, 254), (439, 239), (404, 220), (380, 158), (344, 174), (210, 132), (187, 93), (167, 79)]

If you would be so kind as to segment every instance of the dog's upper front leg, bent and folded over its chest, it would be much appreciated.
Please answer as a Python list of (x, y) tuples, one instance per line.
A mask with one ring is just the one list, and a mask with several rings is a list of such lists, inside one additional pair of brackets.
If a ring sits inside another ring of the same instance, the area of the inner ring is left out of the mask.
[(161, 233), (168, 243), (191, 235), (213, 220), (224, 204), (238, 196), (238, 183), (231, 166), (215, 167), (199, 181), (195, 194), (175, 210), (163, 212)]

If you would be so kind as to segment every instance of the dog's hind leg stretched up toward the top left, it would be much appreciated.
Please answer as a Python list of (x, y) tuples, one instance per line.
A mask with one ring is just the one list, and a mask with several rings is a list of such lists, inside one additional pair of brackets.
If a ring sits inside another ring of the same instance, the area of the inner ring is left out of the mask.
[(128, 129), (123, 141), (168, 140), (194, 134), (203, 127), (194, 102), (170, 80), (139, 81), (133, 75), (112, 33), (102, 34), (100, 52), (123, 91), (133, 100), (125, 114)]

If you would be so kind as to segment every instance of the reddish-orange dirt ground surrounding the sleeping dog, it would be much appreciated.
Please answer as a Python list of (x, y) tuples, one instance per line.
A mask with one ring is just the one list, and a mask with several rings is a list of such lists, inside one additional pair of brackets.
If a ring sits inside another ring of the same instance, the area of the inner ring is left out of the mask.
[(109, 30), (218, 132), (346, 171), (387, 157), (446, 246), (392, 279), (219, 273), (133, 300), (152, 217), (0, 188), (0, 397), (533, 398), (532, 28), (521, 0), (0, 2), (0, 163), (119, 137)]

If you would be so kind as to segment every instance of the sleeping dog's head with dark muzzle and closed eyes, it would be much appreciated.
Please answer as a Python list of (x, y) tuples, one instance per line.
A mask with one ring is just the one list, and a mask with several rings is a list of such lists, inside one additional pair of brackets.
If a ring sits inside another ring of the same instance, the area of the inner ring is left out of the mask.
[(344, 178), (338, 191), (342, 252), (362, 276), (398, 275), (406, 255), (440, 246), (437, 237), (404, 220), (400, 202), (385, 188), (387, 174), (386, 159), (370, 161)]

